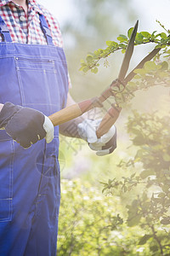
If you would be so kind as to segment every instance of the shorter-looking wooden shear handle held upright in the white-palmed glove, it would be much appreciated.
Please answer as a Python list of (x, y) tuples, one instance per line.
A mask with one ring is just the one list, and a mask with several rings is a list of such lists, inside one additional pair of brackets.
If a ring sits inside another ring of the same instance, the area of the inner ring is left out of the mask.
[(98, 130), (96, 131), (98, 138), (104, 135), (107, 131), (109, 131), (111, 126), (115, 124), (116, 119), (121, 112), (121, 109), (122, 108), (116, 108), (114, 105), (112, 105), (108, 112), (105, 113), (105, 116), (99, 124)]

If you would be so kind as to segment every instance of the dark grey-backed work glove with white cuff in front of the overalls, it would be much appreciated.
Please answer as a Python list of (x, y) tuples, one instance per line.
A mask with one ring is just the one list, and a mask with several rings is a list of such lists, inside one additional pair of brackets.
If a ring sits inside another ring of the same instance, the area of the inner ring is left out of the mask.
[(31, 147), (45, 137), (54, 138), (54, 125), (43, 113), (6, 102), (0, 112), (0, 130), (5, 130), (23, 148)]

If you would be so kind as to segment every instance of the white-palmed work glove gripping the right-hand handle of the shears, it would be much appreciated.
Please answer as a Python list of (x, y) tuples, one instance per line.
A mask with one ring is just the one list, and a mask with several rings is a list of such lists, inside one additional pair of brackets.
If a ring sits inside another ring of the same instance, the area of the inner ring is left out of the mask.
[(116, 127), (113, 125), (111, 129), (102, 137), (98, 138), (96, 130), (99, 127), (101, 119), (84, 119), (82, 123), (77, 125), (79, 136), (88, 142), (89, 147), (101, 156), (111, 154), (116, 148)]

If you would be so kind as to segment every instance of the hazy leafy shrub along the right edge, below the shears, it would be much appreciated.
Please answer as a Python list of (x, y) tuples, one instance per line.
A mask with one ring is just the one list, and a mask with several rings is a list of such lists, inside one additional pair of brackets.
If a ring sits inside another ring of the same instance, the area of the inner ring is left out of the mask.
[[(122, 160), (119, 167), (126, 172), (141, 164), (141, 171), (129, 177), (112, 178), (104, 183), (103, 192), (115, 195), (140, 188), (132, 202), (127, 201), (127, 226), (139, 226), (144, 235), (139, 245), (148, 243), (150, 255), (170, 253), (170, 119), (158, 114), (133, 112), (127, 123), (137, 152), (130, 160)], [(135, 191), (135, 190), (134, 190)]]

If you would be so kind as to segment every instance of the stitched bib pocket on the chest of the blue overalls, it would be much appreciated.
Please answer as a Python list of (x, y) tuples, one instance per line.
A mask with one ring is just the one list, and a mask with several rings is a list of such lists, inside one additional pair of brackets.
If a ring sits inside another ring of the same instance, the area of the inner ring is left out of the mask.
[(15, 58), (22, 105), (49, 115), (61, 103), (56, 68), (52, 59)]

